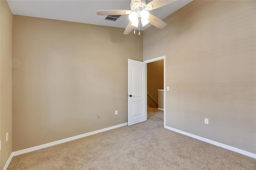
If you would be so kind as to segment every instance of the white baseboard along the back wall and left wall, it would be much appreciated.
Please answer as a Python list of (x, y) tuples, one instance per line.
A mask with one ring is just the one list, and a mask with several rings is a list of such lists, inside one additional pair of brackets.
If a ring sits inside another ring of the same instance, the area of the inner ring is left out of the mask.
[(18, 151), (12, 152), (12, 154), (10, 155), (8, 161), (6, 162), (6, 164), (4, 166), (4, 170), (7, 169), (7, 167), (10, 164), (13, 156), (17, 156), (17, 155), (20, 155), (20, 154), (32, 152), (32, 151), (39, 150), (39, 149), (42, 149), (42, 148), (47, 148), (49, 146), (54, 146), (56, 144), (61, 144), (61, 143), (68, 142), (68, 141), (71, 141), (71, 140), (76, 140), (76, 139), (79, 139), (79, 138), (90, 136), (92, 134), (96, 134), (96, 133), (100, 133), (100, 132), (105, 132), (107, 130), (111, 130), (111, 129), (118, 128), (118, 127), (123, 127), (123, 126), (126, 126), (126, 125), (128, 125), (128, 123), (123, 123), (123, 124), (120, 124), (120, 125), (116, 125), (116, 126), (112, 126), (112, 127), (108, 127), (108, 128), (103, 128), (103, 129), (100, 129), (100, 130), (95, 130), (93, 132), (88, 132), (88, 133), (80, 134), (80, 135), (73, 136), (73, 137), (70, 137), (70, 138), (65, 138), (65, 139), (62, 139), (62, 140), (57, 140), (55, 142), (41, 144), (39, 146), (34, 146), (32, 148), (27, 148), (27, 149), (23, 149), (23, 150), (18, 150)]

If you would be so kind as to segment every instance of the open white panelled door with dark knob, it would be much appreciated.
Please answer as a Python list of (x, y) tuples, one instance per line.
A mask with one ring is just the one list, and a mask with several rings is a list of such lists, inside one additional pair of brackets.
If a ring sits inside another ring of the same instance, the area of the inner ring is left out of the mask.
[(146, 63), (128, 59), (128, 126), (146, 119)]

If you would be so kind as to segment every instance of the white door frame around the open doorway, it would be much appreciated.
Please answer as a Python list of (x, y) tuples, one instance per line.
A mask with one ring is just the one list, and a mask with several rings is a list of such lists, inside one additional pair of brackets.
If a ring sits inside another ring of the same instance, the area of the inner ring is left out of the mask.
[[(143, 61), (144, 63), (146, 63), (146, 94), (147, 94), (147, 91), (148, 91), (148, 87), (147, 87), (147, 63), (151, 63), (151, 62), (154, 62), (154, 61), (158, 61), (158, 60), (164, 60), (164, 128), (166, 128), (166, 122), (165, 122), (165, 117), (166, 117), (166, 105), (165, 105), (165, 91), (166, 91), (166, 86), (165, 86), (165, 55), (162, 56), (162, 57), (157, 57), (157, 58), (153, 58), (153, 59), (149, 59), (149, 60), (146, 60), (146, 61)], [(146, 97), (146, 106), (147, 106), (147, 97)], [(148, 119), (147, 117), (147, 109), (146, 109), (146, 120)]]

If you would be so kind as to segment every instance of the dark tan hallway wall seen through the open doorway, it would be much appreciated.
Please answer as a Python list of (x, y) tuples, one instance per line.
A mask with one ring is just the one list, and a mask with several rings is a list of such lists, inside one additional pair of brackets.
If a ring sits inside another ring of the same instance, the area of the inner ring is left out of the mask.
[[(147, 63), (147, 92), (158, 102), (157, 89), (164, 89), (164, 60), (154, 61)], [(156, 107), (157, 105), (147, 98), (147, 104), (150, 107)]]

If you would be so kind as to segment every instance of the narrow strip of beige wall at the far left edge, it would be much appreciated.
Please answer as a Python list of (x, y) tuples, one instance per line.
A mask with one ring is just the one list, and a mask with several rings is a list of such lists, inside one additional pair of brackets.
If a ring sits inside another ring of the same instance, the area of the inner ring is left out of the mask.
[[(12, 153), (12, 12), (0, 1), (0, 133), (1, 170)], [(8, 141), (6, 142), (6, 133)]]

